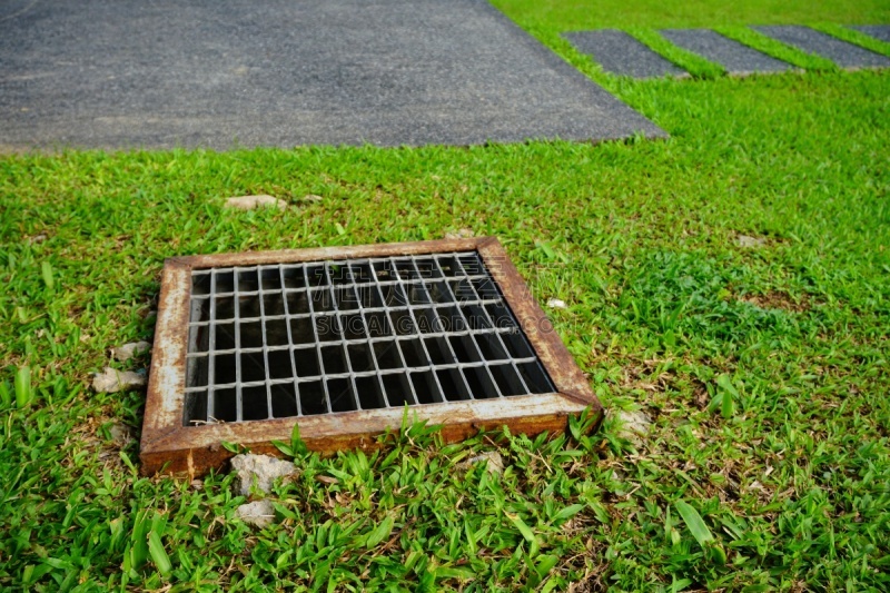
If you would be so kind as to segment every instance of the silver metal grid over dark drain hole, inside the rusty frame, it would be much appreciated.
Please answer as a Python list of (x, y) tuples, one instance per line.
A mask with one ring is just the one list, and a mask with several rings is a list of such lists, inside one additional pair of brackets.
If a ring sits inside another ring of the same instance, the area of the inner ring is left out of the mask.
[(186, 425), (555, 391), (475, 251), (192, 270), (190, 299)]

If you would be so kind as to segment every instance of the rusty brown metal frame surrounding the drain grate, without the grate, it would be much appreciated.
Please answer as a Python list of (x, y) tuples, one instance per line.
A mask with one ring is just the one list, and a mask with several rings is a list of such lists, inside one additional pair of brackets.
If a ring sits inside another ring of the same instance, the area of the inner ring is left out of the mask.
[(591, 408), (599, 422), (603, 414), (602, 405), (495, 237), (172, 257), (165, 261), (161, 276), (140, 444), (142, 474), (152, 475), (164, 471), (169, 474), (201, 475), (221, 466), (233, 455), (220, 445), (224, 441), (244, 445), (255, 453), (279, 454), (271, 442), (288, 442), (297, 422), (303, 439), (313, 451), (333, 453), (345, 448), (372, 447), (378, 435), (387, 429), (397, 429), (403, 419), (404, 409), (382, 408), (184, 426), (192, 270), (472, 250), (479, 254), (501, 288), (505, 302), (556, 386), (556, 392), (412, 406), (409, 418), (442, 425), (442, 436), (446, 442), (459, 441), (479, 429), (503, 425), (514, 433), (528, 435), (561, 431), (565, 428), (568, 415), (578, 414), (586, 407)]

